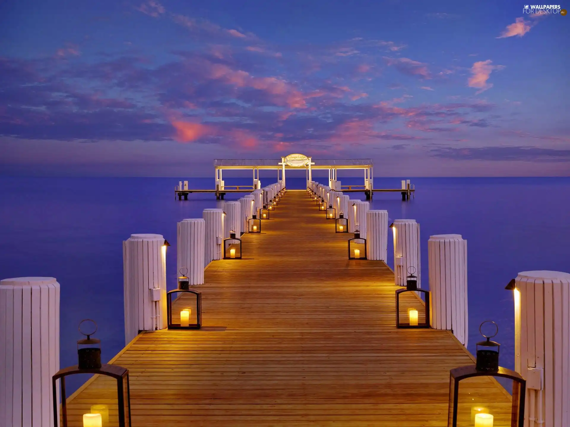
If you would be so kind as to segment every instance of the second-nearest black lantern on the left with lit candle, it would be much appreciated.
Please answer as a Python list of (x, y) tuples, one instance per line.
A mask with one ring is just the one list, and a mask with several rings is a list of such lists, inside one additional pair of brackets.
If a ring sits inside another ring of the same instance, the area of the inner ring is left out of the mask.
[[(182, 270), (186, 272), (182, 273)], [(200, 291), (190, 289), (186, 267), (182, 267), (180, 273), (182, 276), (178, 277), (178, 289), (166, 292), (168, 329), (200, 329), (202, 327), (202, 294)], [(173, 301), (176, 307), (172, 306)]]

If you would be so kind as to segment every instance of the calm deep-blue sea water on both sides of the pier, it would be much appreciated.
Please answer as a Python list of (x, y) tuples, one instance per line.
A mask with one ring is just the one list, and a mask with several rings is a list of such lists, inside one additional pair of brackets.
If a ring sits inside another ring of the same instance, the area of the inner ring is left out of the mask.
[[(319, 180), (317, 176), (315, 178)], [(341, 178), (343, 184), (362, 179)], [(262, 178), (262, 183), (275, 179)], [(325, 178), (320, 179), (325, 182)], [(61, 366), (76, 363), (77, 326), (95, 319), (102, 358), (124, 347), (122, 242), (132, 233), (158, 233), (166, 255), (168, 288), (176, 287), (176, 223), (202, 217), (222, 203), (211, 194), (174, 199), (178, 178), (0, 178), (0, 278), (52, 276), (61, 284)], [(469, 345), (482, 321), (499, 325), (500, 362), (514, 367), (514, 307), (504, 286), (524, 270), (570, 271), (570, 178), (416, 178), (416, 197), (376, 193), (371, 208), (390, 219), (421, 224), (422, 287), (427, 288), (427, 239), (457, 233), (467, 239)], [(226, 184), (251, 184), (235, 178)], [(213, 188), (213, 179), (190, 179)], [(288, 178), (288, 188), (303, 188)], [(399, 188), (400, 178), (375, 178), (377, 188)], [(364, 199), (364, 194), (351, 198)], [(237, 199), (239, 196), (235, 196)], [(231, 199), (231, 198), (230, 198)], [(393, 266), (392, 239), (388, 264)], [(73, 391), (80, 384), (70, 383)]]

